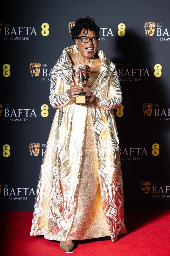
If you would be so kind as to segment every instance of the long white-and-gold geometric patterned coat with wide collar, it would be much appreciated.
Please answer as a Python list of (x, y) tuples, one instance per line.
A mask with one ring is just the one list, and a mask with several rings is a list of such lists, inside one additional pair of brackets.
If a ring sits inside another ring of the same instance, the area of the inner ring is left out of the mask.
[(122, 92), (115, 65), (98, 49), (101, 67), (90, 90), (100, 97), (100, 105), (76, 105), (67, 89), (73, 85), (69, 56), (77, 51), (76, 45), (65, 48), (51, 73), (49, 100), (57, 110), (41, 165), (30, 235), (67, 239), (75, 216), (89, 108), (104, 215), (114, 242), (117, 235), (126, 233), (119, 138), (113, 112), (122, 103)]

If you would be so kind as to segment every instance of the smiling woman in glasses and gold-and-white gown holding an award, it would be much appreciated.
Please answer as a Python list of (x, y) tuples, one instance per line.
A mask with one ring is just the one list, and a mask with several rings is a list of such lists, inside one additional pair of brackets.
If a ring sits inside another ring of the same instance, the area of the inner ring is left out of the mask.
[[(30, 235), (60, 241), (126, 233), (119, 139), (113, 109), (122, 103), (115, 65), (98, 48), (99, 27), (80, 18), (71, 30), (76, 45), (63, 50), (51, 73), (56, 108), (38, 179)], [(90, 66), (88, 84), (75, 86), (74, 64)], [(85, 105), (75, 98), (87, 93)]]

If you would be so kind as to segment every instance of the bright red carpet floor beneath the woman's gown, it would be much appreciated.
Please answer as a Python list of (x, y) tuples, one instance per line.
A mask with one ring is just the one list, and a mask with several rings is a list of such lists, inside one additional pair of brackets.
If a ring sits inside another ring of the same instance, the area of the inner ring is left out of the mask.
[[(169, 213), (170, 210), (125, 210), (127, 234), (118, 236), (115, 243), (109, 237), (75, 241), (76, 248), (71, 255), (168, 256)], [(2, 255), (67, 255), (60, 249), (58, 241), (29, 235), (32, 216), (33, 212), (30, 211), (2, 213)]]

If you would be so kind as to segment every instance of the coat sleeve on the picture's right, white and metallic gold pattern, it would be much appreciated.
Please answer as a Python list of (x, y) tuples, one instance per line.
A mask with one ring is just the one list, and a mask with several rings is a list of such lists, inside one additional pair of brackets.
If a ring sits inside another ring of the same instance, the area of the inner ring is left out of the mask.
[(108, 97), (102, 97), (102, 93), (94, 89), (90, 91), (94, 96), (100, 98), (100, 105), (98, 105), (98, 107), (108, 110), (119, 108), (122, 103), (122, 90), (120, 87), (119, 76), (116, 68), (110, 77), (109, 88), (107, 92)]

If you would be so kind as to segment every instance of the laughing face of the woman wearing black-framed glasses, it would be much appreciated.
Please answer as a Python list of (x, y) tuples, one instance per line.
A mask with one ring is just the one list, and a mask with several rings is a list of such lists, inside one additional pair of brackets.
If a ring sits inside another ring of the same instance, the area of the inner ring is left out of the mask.
[[(79, 37), (81, 36), (88, 36), (90, 38), (97, 37), (96, 32), (94, 30), (91, 31), (88, 29), (88, 34), (86, 35), (83, 32), (84, 32), (84, 29), (81, 30)], [(76, 39), (75, 43), (78, 46), (79, 54), (83, 58), (92, 58), (95, 55), (96, 50), (98, 48), (98, 43), (94, 44), (91, 40), (88, 43), (82, 43), (80, 39)]]

